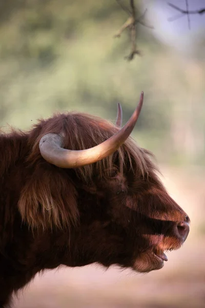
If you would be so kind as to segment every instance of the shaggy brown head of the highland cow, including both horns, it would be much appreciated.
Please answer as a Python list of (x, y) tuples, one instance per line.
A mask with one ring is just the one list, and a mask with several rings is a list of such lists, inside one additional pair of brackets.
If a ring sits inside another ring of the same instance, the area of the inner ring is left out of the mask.
[(65, 240), (69, 241), (69, 253), (65, 253), (64, 264), (98, 262), (149, 272), (161, 268), (167, 261), (164, 252), (178, 249), (188, 236), (189, 217), (159, 180), (151, 153), (129, 137), (142, 101), (143, 93), (122, 128), (118, 127), (120, 106), (117, 125), (70, 113), (36, 126), (38, 137), (30, 161), (35, 155), (35, 160), (41, 161), (39, 194), (38, 184), (34, 186), (38, 210), (34, 217), (28, 194), (27, 205), (19, 203), (19, 209), (29, 223), (32, 217), (34, 227), (40, 217), (39, 206), (43, 208), (40, 223), (44, 226), (49, 219), (63, 227), (68, 222), (69, 239)]

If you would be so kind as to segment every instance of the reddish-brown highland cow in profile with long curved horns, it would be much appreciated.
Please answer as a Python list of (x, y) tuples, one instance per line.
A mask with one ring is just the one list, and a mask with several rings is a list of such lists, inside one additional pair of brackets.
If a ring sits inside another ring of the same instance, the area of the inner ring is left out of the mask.
[(0, 306), (59, 265), (117, 264), (145, 273), (189, 233), (148, 150), (121, 125), (70, 112), (0, 136)]

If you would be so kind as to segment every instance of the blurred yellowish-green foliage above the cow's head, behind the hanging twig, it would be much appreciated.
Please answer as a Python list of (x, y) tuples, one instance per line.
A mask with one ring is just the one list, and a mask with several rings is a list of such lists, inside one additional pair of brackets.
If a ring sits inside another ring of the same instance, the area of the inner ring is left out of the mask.
[(143, 56), (125, 61), (128, 32), (113, 36), (127, 15), (115, 0), (7, 0), (0, 8), (0, 125), (5, 130), (7, 123), (28, 129), (56, 110), (114, 121), (117, 102), (125, 123), (144, 90), (134, 131), (139, 145), (153, 150), (160, 162), (204, 162), (204, 63), (181, 61), (141, 26), (137, 44)]

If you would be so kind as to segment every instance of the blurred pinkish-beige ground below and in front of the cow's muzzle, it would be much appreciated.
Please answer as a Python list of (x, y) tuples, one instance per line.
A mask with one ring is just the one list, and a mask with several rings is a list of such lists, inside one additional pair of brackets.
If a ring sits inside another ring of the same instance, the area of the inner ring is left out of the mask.
[(205, 308), (204, 169), (161, 167), (162, 179), (191, 218), (190, 235), (168, 254), (160, 271), (146, 275), (92, 265), (37, 276), (15, 308)]

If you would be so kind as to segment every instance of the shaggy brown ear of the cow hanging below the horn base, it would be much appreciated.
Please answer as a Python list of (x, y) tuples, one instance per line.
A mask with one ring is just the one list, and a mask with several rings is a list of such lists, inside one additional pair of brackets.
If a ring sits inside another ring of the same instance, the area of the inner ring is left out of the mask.
[(32, 229), (75, 225), (79, 214), (76, 190), (66, 170), (47, 163), (36, 166), (20, 193), (18, 209)]

